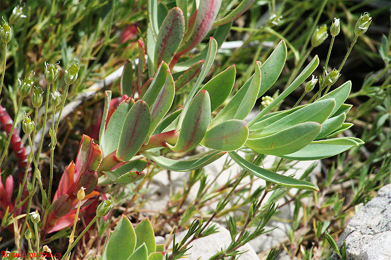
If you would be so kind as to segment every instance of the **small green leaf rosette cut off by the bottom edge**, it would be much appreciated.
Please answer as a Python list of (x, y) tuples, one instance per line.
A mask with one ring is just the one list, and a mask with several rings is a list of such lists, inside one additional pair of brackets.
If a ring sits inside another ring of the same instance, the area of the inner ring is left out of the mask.
[(122, 216), (114, 231), (109, 232), (102, 260), (163, 260), (164, 245), (155, 243), (148, 218), (133, 228), (130, 220)]

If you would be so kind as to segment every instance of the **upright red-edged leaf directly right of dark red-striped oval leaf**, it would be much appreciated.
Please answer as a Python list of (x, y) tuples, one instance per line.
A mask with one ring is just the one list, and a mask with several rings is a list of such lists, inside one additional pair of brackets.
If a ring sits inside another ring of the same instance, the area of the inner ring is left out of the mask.
[(175, 96), (174, 79), (170, 71), (167, 70), (166, 82), (160, 89), (155, 102), (151, 107), (151, 127), (147, 135), (147, 140), (155, 130), (156, 126), (169, 111)]

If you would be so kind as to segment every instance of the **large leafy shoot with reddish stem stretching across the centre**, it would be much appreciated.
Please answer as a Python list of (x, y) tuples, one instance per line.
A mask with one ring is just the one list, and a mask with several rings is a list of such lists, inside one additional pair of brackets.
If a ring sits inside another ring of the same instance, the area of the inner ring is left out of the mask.
[[(339, 154), (363, 143), (352, 137), (332, 138), (351, 126), (344, 123), (351, 107), (344, 104), (350, 93), (350, 81), (311, 104), (268, 114), (311, 76), (319, 64), (318, 57), (311, 60), (275, 100), (247, 123), (243, 119), (252, 110), (256, 100), (280, 76), (286, 60), (286, 45), (281, 41), (263, 64), (257, 61), (254, 74), (233, 96), (231, 92), (236, 75), (234, 65), (206, 84), (201, 84), (216, 53), (217, 41), (211, 38), (205, 62), (201, 70), (195, 73), (198, 75), (194, 76), (196, 81), (180, 109), (172, 107), (175, 85), (188, 71), (174, 81), (169, 65), (164, 60), (146, 90), (138, 93), (140, 96), (135, 98), (137, 101), (132, 98), (124, 100), (108, 121), (106, 108), (110, 93), (106, 93), (100, 131), (104, 159), (98, 169), (98, 172), (106, 174), (106, 181), (125, 183), (135, 180), (135, 176), (147, 165), (142, 157), (169, 170), (190, 171), (228, 152), (241, 167), (259, 178), (288, 187), (318, 190), (310, 182), (263, 169), (243, 159), (236, 151), (249, 148), (261, 154), (292, 160), (314, 160)], [(127, 66), (121, 84), (130, 82), (131, 73), (127, 74), (126, 71)], [(223, 102), (226, 105), (219, 109)], [(214, 111), (217, 114), (213, 117)], [(209, 152), (186, 160), (173, 160), (160, 154), (163, 147), (182, 154), (198, 145), (209, 148)]]

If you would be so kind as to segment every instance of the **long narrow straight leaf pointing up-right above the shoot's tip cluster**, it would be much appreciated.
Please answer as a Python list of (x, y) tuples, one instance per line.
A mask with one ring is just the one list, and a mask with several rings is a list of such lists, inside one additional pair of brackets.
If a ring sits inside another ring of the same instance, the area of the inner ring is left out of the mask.
[(318, 67), (318, 65), (319, 58), (318, 56), (315, 56), (314, 59), (312, 59), (311, 62), (309, 62), (309, 64), (304, 68), (302, 73), (300, 73), (300, 75), (297, 76), (297, 78), (293, 80), (293, 82), (275, 100), (273, 100), (270, 104), (263, 108), (262, 111), (248, 123), (248, 127), (251, 127), (255, 122), (259, 121), (275, 105), (280, 103), (297, 87), (299, 87), (304, 82), (304, 80), (306, 80), (312, 74), (312, 72)]

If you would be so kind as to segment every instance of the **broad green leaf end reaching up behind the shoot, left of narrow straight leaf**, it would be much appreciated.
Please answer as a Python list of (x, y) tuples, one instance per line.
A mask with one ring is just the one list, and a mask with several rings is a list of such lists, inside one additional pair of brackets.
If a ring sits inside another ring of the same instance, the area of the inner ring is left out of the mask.
[(277, 81), (286, 60), (286, 44), (281, 40), (269, 58), (261, 65), (261, 87), (258, 98), (261, 97)]

